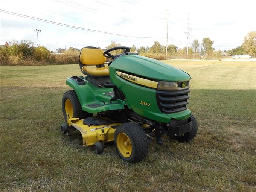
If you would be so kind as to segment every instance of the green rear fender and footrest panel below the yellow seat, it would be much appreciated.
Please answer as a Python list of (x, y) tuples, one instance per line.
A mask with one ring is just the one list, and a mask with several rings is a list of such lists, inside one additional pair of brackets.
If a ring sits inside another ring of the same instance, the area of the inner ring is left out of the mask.
[[(75, 81), (68, 78), (66, 84), (69, 85), (73, 90), (75, 90), (79, 102), (81, 104), (82, 110), (88, 113), (99, 113), (108, 110), (124, 109), (125, 101), (117, 99), (117, 101), (112, 101), (110, 103), (111, 96), (107, 96), (104, 93), (113, 92), (113, 88), (99, 88), (93, 85), (91, 82), (86, 81), (85, 85), (78, 85)], [(105, 105), (103, 104), (104, 101)], [(99, 104), (100, 107), (91, 108), (87, 105)]]

